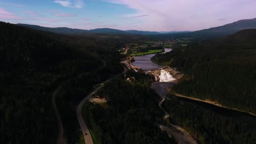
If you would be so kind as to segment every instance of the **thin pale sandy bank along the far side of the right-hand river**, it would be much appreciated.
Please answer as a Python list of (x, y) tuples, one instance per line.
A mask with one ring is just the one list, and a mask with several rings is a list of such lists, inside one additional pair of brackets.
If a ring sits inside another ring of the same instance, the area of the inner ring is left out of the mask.
[(255, 113), (251, 113), (251, 112), (246, 112), (246, 111), (238, 110), (238, 109), (231, 108), (231, 107), (226, 107), (226, 106), (223, 106), (222, 104), (219, 104), (218, 102), (214, 102), (214, 101), (210, 101), (210, 100), (201, 100), (201, 99), (192, 98), (192, 97), (187, 97), (187, 96), (184, 96), (184, 95), (178, 94), (178, 93), (176, 93), (175, 95), (176, 95), (177, 97), (180, 97), (180, 98), (185, 98), (185, 99), (190, 99), (190, 100), (195, 100), (195, 101), (201, 101), (201, 102), (203, 102), (203, 103), (212, 104), (212, 105), (215, 105), (215, 106), (222, 107), (222, 108), (224, 108), (224, 109), (230, 109), (230, 110), (235, 110), (235, 111), (240, 111), (240, 112), (248, 113), (249, 115), (252, 115), (252, 116), (255, 116), (255, 117), (256, 117), (256, 114), (255, 114)]

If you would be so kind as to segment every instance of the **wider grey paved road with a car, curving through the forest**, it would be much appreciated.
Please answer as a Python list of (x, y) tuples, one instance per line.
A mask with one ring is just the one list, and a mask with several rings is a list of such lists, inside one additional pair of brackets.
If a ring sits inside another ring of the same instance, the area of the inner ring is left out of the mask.
[(85, 103), (86, 100), (88, 100), (93, 94), (95, 94), (99, 89), (101, 89), (103, 87), (103, 83), (101, 83), (100, 86), (98, 86), (96, 89), (94, 89), (93, 92), (91, 92), (89, 95), (87, 95), (77, 106), (77, 119), (78, 122), (80, 124), (80, 127), (83, 131), (83, 135), (84, 135), (84, 141), (86, 144), (93, 144), (94, 141), (92, 141), (92, 137), (91, 137), (91, 133), (87, 127), (87, 125), (84, 122), (84, 118), (82, 116), (82, 107)]

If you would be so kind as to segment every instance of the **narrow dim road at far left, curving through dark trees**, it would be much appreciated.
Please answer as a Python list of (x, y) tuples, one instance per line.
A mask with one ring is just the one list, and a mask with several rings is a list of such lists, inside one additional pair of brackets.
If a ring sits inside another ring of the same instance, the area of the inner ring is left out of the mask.
[(60, 88), (61, 87), (58, 87), (57, 89), (55, 89), (53, 96), (51, 97), (51, 105), (53, 105), (54, 113), (57, 118), (58, 131), (59, 131), (57, 144), (61, 144), (63, 142), (63, 124), (61, 122), (60, 112), (57, 109), (56, 101), (55, 101), (56, 93), (60, 90)]

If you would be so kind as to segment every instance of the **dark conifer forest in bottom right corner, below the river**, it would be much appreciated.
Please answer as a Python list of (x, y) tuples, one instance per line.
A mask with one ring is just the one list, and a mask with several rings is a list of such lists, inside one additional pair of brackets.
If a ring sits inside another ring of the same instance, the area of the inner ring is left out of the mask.
[(256, 127), (235, 121), (197, 104), (181, 103), (174, 95), (164, 101), (170, 122), (181, 125), (199, 143), (255, 143)]

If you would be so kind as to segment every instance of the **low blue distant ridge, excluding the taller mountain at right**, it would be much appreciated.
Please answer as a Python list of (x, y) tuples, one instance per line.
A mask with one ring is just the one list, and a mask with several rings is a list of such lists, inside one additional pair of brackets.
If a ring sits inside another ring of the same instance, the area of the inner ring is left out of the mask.
[(48, 31), (53, 33), (59, 33), (59, 34), (85, 34), (85, 33), (104, 33), (104, 34), (138, 34), (138, 35), (159, 35), (159, 34), (167, 34), (167, 33), (186, 33), (186, 32), (150, 32), (150, 31), (136, 31), (136, 30), (127, 30), (122, 31), (119, 29), (112, 29), (112, 28), (97, 28), (97, 29), (91, 29), (91, 30), (84, 30), (84, 29), (73, 29), (73, 28), (67, 28), (67, 27), (56, 27), (56, 28), (50, 28), (50, 27), (42, 27), (37, 25), (28, 25), (23, 23), (18, 23), (19, 26), (29, 27), (33, 29), (38, 29), (41, 31)]

